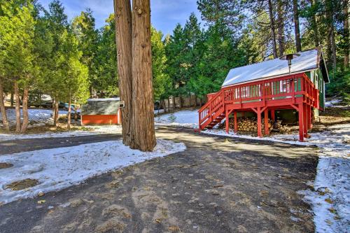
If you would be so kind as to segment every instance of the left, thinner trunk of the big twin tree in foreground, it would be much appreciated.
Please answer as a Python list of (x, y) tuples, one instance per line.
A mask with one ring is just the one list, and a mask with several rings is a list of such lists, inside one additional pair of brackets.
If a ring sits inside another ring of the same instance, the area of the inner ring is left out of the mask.
[(114, 0), (123, 143), (129, 146), (134, 138), (132, 126), (132, 12), (130, 0)]

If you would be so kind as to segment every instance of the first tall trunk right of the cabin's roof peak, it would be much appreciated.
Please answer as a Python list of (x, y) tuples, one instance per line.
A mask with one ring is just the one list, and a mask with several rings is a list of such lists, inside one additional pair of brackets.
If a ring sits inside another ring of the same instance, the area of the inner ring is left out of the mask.
[(332, 1), (325, 1), (325, 15), (328, 23), (328, 59), (332, 61), (332, 68), (335, 71), (337, 67), (337, 54), (335, 51), (335, 33), (334, 33), (334, 22), (333, 22), (333, 6)]

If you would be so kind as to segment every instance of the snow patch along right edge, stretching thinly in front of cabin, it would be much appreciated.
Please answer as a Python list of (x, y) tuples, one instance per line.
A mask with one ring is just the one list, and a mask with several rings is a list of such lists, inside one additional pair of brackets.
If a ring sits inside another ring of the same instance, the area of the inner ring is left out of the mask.
[(317, 146), (319, 158), (313, 190), (299, 191), (313, 206), (316, 232), (348, 232), (350, 225), (350, 124), (332, 125), (324, 132), (311, 133), (306, 142), (297, 134), (280, 134), (258, 138), (226, 134), (223, 129), (202, 131), (261, 141), (275, 141), (300, 146)]

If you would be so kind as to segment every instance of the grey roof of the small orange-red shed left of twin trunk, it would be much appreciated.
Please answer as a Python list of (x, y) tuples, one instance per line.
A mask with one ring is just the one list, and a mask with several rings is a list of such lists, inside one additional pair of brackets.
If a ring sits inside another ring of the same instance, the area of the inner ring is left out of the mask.
[(87, 99), (87, 103), (81, 106), (81, 115), (116, 115), (119, 104), (119, 98)]

